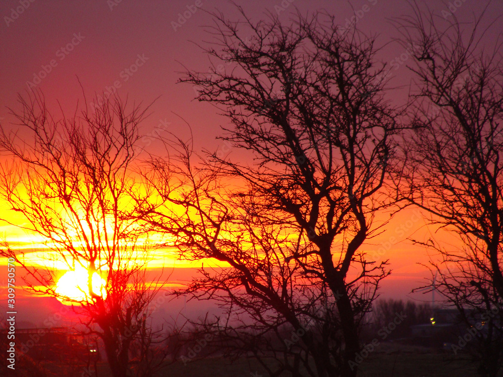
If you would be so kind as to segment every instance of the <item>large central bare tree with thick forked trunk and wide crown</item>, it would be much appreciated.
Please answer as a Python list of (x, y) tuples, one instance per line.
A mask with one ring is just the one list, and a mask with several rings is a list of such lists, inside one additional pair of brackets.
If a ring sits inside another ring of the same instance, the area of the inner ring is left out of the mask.
[(169, 144), (178, 153), (152, 157), (138, 216), (182, 257), (228, 265), (202, 268), (179, 293), (225, 308), (201, 325), (219, 349), (253, 354), (271, 375), (355, 376), (359, 326), (388, 273), (361, 246), (392, 203), (398, 130), (374, 40), (328, 15), (291, 26), (241, 16), (215, 15), (213, 72), (182, 82), (222, 109), (232, 126), (221, 140), (253, 162)]

